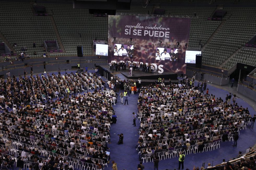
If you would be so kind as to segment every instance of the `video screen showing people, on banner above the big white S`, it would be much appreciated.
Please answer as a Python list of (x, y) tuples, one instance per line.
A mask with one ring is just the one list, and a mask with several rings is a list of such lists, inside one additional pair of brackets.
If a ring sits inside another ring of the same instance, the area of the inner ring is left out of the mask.
[(164, 60), (164, 61), (178, 61), (178, 48), (162, 48), (156, 47), (156, 60)]

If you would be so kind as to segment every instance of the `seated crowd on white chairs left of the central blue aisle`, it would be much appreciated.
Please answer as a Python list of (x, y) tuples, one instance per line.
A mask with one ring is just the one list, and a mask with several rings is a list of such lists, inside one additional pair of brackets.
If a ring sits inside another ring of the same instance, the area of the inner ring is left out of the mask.
[[(4, 158), (34, 169), (38, 160), (40, 169), (103, 169), (107, 165), (110, 124), (117, 116), (111, 100), (115, 93), (101, 90), (102, 79), (86, 72), (8, 77), (0, 83), (1, 107), (5, 108), (0, 115), (0, 153)], [(67, 87), (71, 98), (66, 98)], [(81, 93), (90, 88), (95, 90)]]

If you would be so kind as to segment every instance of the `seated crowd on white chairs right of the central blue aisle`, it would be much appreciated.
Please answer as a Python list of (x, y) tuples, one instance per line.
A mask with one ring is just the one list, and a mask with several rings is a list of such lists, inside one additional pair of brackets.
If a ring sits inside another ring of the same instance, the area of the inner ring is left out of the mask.
[(203, 152), (231, 140), (251, 121), (248, 108), (228, 104), (187, 84), (141, 87), (139, 159), (161, 160), (184, 153)]

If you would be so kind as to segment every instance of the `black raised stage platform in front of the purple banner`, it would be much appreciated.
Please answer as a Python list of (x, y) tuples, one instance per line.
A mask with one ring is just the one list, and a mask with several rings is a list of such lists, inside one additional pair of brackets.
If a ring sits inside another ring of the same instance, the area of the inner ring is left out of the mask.
[[(129, 73), (130, 71), (129, 70), (118, 70), (118, 71), (112, 71), (110, 70), (109, 66), (108, 65), (101, 65), (101, 66), (98, 66), (99, 67), (99, 71), (100, 71), (100, 74), (103, 73), (103, 68), (105, 68), (106, 70), (108, 70), (108, 75), (111, 74), (112, 75), (116, 75), (116, 74), (121, 74), (123, 75), (126, 79), (136, 79), (138, 80), (138, 78), (140, 79), (148, 79), (148, 80), (158, 80), (159, 77), (161, 78), (164, 78), (165, 79), (165, 82), (168, 82), (169, 79), (171, 80), (178, 80), (177, 79), (177, 74), (176, 73), (173, 73), (173, 72), (163, 72), (163, 73), (158, 73), (158, 72), (155, 72), (155, 73), (145, 73), (145, 72), (142, 72), (142, 71), (135, 71), (135, 70), (132, 70), (132, 76), (129, 76)], [(103, 75), (103, 74), (101, 74)], [(111, 76), (108, 76), (108, 79), (111, 77)]]

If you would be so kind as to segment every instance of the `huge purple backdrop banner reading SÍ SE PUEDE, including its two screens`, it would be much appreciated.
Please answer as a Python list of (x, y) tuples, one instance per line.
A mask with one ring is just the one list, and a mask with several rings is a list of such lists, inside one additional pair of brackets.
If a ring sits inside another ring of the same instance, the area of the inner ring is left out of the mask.
[[(185, 73), (189, 29), (190, 18), (109, 15), (108, 41), (113, 42), (116, 37), (116, 42), (109, 43), (108, 62), (143, 62), (156, 65), (159, 73)], [(162, 45), (180, 43), (179, 47), (163, 47), (156, 45), (159, 41)]]

